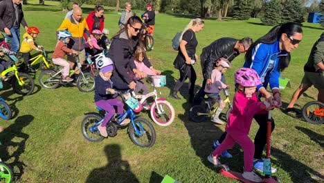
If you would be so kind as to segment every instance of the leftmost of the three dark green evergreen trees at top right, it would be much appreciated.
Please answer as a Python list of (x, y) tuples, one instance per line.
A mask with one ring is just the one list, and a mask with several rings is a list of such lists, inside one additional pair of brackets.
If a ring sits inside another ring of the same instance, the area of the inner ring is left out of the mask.
[(235, 0), (233, 6), (233, 19), (249, 19), (252, 12), (252, 1), (251, 0)]

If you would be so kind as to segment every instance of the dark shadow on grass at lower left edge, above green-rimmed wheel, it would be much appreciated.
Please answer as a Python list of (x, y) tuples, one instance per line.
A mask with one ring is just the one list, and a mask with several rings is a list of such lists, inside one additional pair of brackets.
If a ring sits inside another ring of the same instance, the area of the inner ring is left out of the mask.
[[(0, 134), (2, 146), (0, 147), (1, 159), (3, 162), (9, 162), (14, 170), (15, 177), (19, 179), (24, 174), (24, 162), (19, 161), (21, 154), (25, 152), (26, 141), (29, 138), (29, 134), (21, 132), (23, 128), (32, 122), (34, 116), (24, 115), (19, 116), (15, 123), (12, 123), (5, 128)], [(19, 140), (19, 142), (17, 142)], [(8, 152), (7, 149), (15, 149), (13, 153)]]

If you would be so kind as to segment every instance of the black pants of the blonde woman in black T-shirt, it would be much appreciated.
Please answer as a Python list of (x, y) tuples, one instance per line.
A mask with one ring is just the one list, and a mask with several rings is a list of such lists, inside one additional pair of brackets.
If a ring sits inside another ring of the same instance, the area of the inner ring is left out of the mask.
[(197, 80), (197, 75), (194, 67), (192, 65), (184, 64), (183, 67), (180, 69), (180, 78), (177, 80), (176, 84), (174, 85), (173, 91), (178, 92), (179, 89), (182, 87), (183, 83), (186, 81), (187, 78), (189, 78), (188, 82), (188, 88), (189, 88), (189, 95), (193, 97), (194, 90), (195, 90), (195, 83)]

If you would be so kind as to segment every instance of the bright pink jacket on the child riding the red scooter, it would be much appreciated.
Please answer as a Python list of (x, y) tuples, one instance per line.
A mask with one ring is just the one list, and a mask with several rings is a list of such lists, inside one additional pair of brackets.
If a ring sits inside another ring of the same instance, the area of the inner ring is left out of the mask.
[(266, 113), (265, 108), (264, 103), (258, 101), (256, 94), (247, 98), (241, 91), (236, 92), (233, 99), (233, 110), (226, 124), (226, 132), (249, 134), (254, 114)]

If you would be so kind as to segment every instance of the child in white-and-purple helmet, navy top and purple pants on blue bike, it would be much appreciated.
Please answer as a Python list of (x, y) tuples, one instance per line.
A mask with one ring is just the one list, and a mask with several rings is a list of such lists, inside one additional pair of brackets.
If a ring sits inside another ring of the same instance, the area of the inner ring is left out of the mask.
[(111, 75), (114, 70), (113, 62), (110, 58), (102, 58), (96, 63), (98, 69), (100, 69), (99, 75), (96, 77), (96, 89), (94, 100), (96, 106), (102, 108), (106, 111), (105, 118), (102, 123), (98, 126), (98, 130), (102, 137), (108, 137), (107, 134), (107, 123), (111, 120), (112, 116), (115, 114), (114, 106), (117, 107), (117, 114), (123, 114), (123, 102), (118, 98), (114, 98), (115, 90), (114, 87), (118, 89), (127, 89), (128, 85), (118, 82), (113, 82), (111, 80)]

